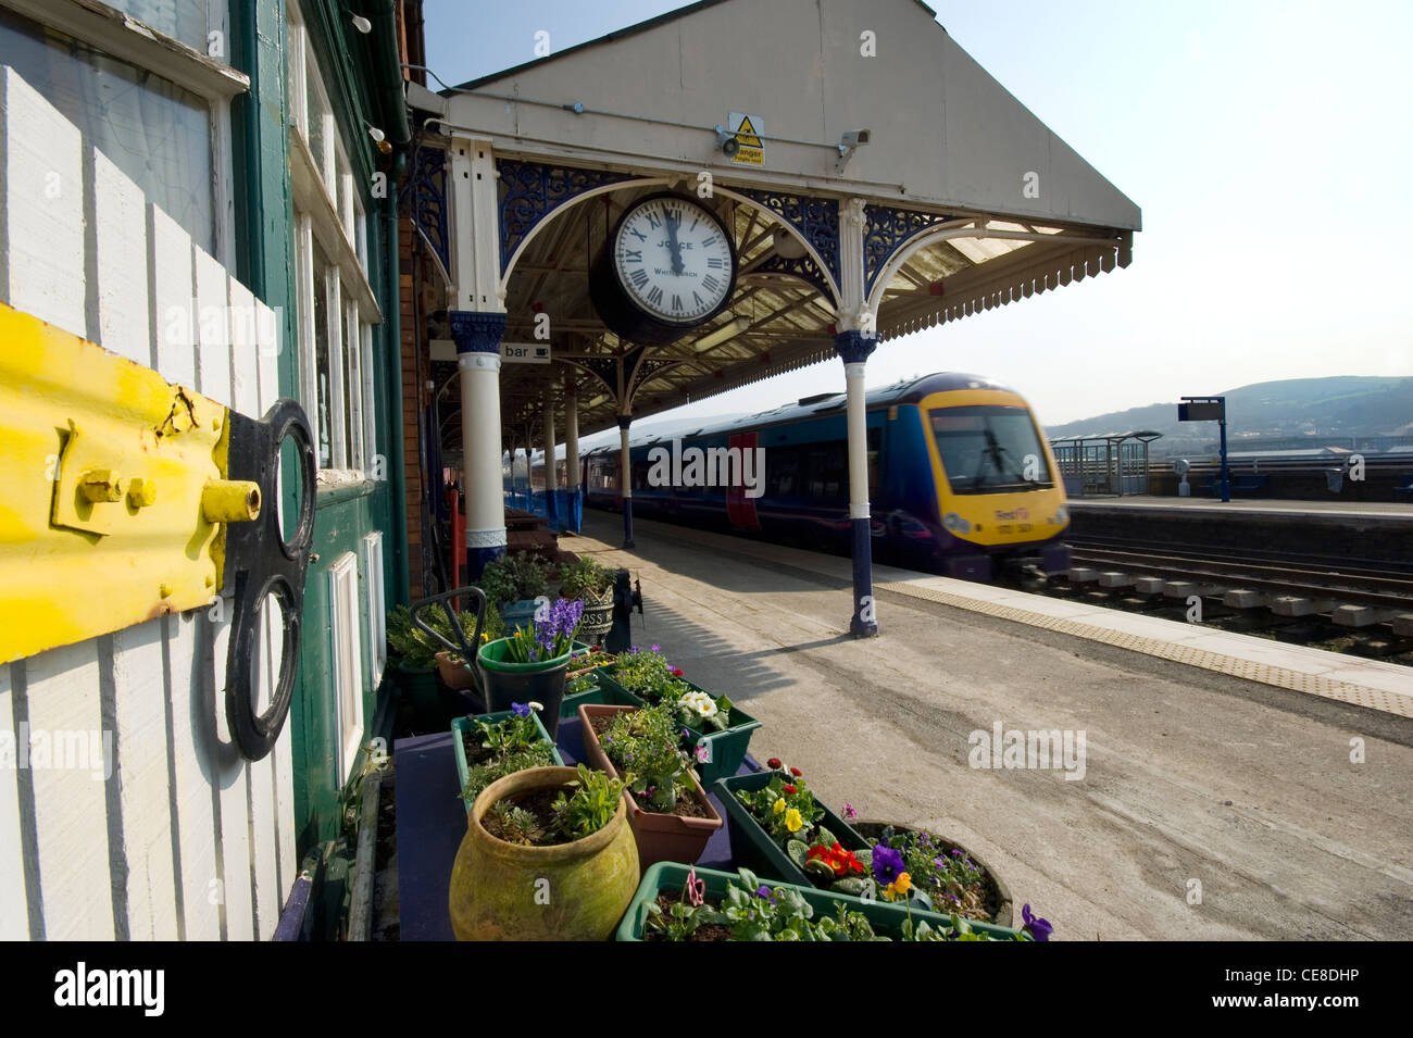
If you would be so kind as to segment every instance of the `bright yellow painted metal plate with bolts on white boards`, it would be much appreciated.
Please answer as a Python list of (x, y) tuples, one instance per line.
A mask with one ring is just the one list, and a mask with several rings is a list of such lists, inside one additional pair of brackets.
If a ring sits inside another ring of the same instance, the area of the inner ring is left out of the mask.
[(0, 662), (206, 606), (226, 408), (0, 304)]

